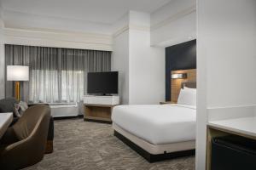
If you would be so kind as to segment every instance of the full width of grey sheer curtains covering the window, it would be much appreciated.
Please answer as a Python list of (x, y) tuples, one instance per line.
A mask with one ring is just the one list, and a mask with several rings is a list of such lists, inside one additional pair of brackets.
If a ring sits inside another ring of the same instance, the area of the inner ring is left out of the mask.
[[(23, 94), (32, 102), (79, 102), (86, 94), (87, 72), (111, 68), (111, 53), (106, 51), (20, 45), (6, 45), (5, 51), (6, 65), (30, 66)], [(11, 87), (6, 88), (7, 96), (13, 95)]]

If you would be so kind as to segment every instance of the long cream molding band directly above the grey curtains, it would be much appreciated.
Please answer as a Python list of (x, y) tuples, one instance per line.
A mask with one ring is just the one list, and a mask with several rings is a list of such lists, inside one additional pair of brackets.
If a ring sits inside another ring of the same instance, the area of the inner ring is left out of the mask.
[(112, 37), (55, 31), (4, 28), (4, 43), (55, 48), (82, 48), (112, 51)]

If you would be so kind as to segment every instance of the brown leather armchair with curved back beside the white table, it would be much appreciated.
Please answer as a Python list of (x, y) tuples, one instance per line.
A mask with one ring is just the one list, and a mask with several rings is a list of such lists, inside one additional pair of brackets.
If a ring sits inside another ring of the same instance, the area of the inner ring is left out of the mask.
[(1, 139), (0, 167), (20, 169), (41, 161), (49, 129), (50, 110), (47, 105), (28, 108)]

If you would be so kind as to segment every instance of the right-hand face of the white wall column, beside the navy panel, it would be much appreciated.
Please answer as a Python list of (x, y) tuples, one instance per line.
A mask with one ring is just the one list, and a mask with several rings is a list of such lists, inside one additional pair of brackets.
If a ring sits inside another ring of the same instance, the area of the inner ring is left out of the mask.
[(129, 103), (165, 100), (165, 49), (150, 47), (150, 32), (130, 30)]

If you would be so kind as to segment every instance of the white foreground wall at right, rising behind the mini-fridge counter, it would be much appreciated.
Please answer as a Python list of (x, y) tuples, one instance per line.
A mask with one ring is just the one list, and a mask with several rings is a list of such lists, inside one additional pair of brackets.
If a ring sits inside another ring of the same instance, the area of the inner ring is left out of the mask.
[[(216, 114), (212, 110), (223, 109), (232, 114), (237, 107), (242, 116), (256, 105), (256, 1), (198, 0), (197, 5), (196, 169), (201, 170), (206, 161), (209, 112)], [(253, 110), (250, 112), (253, 115)]]

